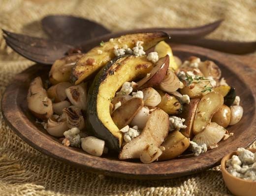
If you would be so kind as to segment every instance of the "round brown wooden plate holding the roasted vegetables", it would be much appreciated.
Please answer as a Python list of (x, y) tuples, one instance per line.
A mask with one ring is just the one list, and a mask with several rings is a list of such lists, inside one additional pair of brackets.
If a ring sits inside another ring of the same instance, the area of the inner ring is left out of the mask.
[(220, 142), (218, 148), (198, 157), (183, 155), (169, 161), (142, 164), (136, 161), (120, 161), (117, 155), (95, 157), (81, 149), (64, 147), (57, 138), (47, 134), (35, 123), (34, 117), (27, 108), (26, 96), (29, 83), (38, 75), (47, 76), (50, 69), (48, 66), (34, 65), (14, 77), (1, 101), (3, 117), (13, 131), (35, 149), (90, 172), (134, 179), (163, 179), (212, 168), (220, 164), (225, 154), (236, 150), (237, 147), (247, 147), (256, 139), (256, 59), (238, 58), (238, 56), (186, 45), (175, 45), (173, 51), (182, 60), (194, 55), (201, 60), (210, 59), (219, 65), (227, 82), (236, 87), (244, 108), (242, 120), (227, 128), (234, 133), (234, 136)]

